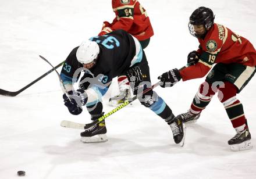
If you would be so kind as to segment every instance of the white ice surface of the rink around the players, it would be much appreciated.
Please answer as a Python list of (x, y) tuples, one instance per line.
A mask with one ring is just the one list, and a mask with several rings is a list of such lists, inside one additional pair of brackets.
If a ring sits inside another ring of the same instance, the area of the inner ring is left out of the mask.
[[(256, 1), (140, 0), (155, 35), (145, 49), (152, 83), (173, 67), (186, 64), (197, 49), (189, 34), (189, 16), (208, 6), (215, 22), (224, 24), (256, 45)], [(102, 22), (112, 22), (111, 1), (9, 0), (0, 5), (0, 88), (17, 91), (66, 59), (84, 39), (97, 35)], [(156, 88), (176, 115), (189, 109), (198, 85), (191, 80), (173, 88)], [(256, 145), (255, 78), (237, 95), (243, 102), (252, 142)], [(104, 97), (104, 111), (112, 108)], [(235, 134), (222, 104), (215, 98), (198, 123), (187, 127), (186, 144), (175, 145), (166, 123), (135, 102), (106, 120), (109, 141), (83, 144), (80, 130), (62, 128), (61, 120), (88, 123), (84, 110), (72, 116), (63, 105), (55, 73), (16, 97), (0, 96), (0, 178), (256, 178), (256, 149), (232, 152)]]

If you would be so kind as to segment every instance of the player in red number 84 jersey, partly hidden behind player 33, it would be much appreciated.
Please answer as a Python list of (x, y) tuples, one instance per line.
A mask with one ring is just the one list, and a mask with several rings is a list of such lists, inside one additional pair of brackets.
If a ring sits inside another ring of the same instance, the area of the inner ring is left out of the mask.
[[(99, 35), (105, 35), (113, 30), (122, 29), (136, 37), (143, 49), (146, 48), (154, 32), (150, 18), (140, 2), (137, 0), (112, 0), (112, 8), (116, 17), (112, 23), (103, 23)], [(125, 74), (118, 76), (118, 86), (120, 94), (111, 99), (117, 103), (122, 103), (130, 97), (129, 81)]]

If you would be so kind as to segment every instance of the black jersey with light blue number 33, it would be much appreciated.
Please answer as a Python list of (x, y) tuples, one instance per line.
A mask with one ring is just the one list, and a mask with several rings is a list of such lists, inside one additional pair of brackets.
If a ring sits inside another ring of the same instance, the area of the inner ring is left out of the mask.
[[(95, 66), (86, 75), (98, 78), (96, 81), (110, 84), (112, 78), (125, 73), (135, 63), (141, 62), (143, 50), (140, 43), (124, 30), (116, 30), (107, 35), (91, 37), (90, 40), (97, 42), (100, 52)], [(72, 84), (72, 80), (76, 82), (80, 73), (78, 76), (74, 76), (74, 73), (77, 69), (83, 67), (76, 58), (78, 48), (76, 47), (70, 52), (62, 67), (61, 78), (65, 85)]]

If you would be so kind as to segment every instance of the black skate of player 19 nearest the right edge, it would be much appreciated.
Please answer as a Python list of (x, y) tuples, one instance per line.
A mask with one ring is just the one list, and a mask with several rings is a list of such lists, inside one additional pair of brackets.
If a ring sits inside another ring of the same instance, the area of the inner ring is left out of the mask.
[(230, 145), (232, 151), (243, 151), (253, 148), (250, 139), (251, 134), (249, 130), (246, 129), (234, 135), (227, 143)]

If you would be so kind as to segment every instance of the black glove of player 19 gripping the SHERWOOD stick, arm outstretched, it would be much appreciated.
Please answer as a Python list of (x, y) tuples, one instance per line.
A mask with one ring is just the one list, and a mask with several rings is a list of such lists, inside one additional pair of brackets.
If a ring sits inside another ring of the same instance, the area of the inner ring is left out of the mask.
[(165, 88), (175, 85), (178, 81), (182, 79), (182, 76), (180, 76), (180, 72), (178, 69), (172, 69), (163, 73), (161, 76), (158, 77), (158, 79), (162, 82), (160, 86), (162, 88)]

